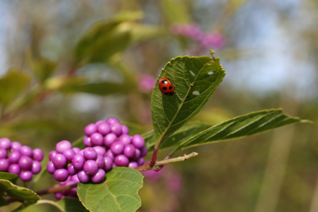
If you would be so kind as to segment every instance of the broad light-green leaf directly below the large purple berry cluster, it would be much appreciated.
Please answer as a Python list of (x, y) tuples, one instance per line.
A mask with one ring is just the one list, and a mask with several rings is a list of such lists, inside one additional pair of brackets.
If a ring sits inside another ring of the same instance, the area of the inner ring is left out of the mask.
[(101, 183), (79, 183), (77, 194), (91, 212), (136, 211), (141, 206), (138, 190), (142, 188), (142, 179), (142, 174), (133, 168), (115, 167)]

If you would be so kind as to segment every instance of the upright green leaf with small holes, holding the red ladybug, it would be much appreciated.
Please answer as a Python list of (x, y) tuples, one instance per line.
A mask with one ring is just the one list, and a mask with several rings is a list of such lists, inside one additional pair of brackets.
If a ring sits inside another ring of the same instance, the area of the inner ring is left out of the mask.
[(162, 145), (202, 109), (224, 76), (225, 71), (218, 58), (184, 56), (170, 60), (158, 79), (169, 79), (176, 94), (163, 95), (157, 80), (151, 96), (151, 118), (158, 145)]

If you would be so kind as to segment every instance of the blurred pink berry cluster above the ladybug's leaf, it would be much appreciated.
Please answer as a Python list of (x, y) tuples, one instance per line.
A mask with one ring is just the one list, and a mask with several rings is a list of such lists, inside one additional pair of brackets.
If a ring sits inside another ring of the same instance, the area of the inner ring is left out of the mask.
[(200, 44), (203, 48), (221, 49), (226, 44), (226, 38), (218, 31), (203, 32), (197, 24), (170, 25), (170, 33), (190, 38)]

